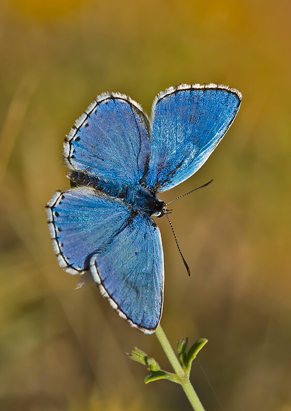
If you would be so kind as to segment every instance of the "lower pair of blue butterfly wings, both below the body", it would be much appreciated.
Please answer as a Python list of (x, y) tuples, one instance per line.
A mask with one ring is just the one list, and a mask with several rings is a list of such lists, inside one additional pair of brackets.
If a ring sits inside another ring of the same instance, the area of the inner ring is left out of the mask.
[(132, 326), (151, 333), (162, 315), (163, 254), (151, 217), (90, 187), (58, 191), (47, 205), (59, 264), (89, 268), (101, 293)]

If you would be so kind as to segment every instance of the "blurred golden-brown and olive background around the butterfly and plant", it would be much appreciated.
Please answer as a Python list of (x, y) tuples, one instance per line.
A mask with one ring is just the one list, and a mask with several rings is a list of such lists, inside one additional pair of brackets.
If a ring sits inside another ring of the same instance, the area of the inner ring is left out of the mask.
[[(161, 197), (162, 327), (209, 343), (191, 379), (207, 411), (291, 411), (291, 3), (288, 0), (0, 1), (0, 410), (191, 410), (169, 381), (145, 385), (135, 345), (171, 370), (95, 286), (75, 290), (44, 206), (69, 186), (65, 134), (119, 91), (149, 113), (179, 83), (243, 95), (226, 137)], [(215, 393), (215, 394), (214, 394)], [(219, 402), (217, 398), (219, 399)]]

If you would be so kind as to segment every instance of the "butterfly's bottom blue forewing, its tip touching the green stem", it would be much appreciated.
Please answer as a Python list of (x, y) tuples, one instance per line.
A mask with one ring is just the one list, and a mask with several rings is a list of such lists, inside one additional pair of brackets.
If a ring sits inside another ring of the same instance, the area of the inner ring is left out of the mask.
[(119, 315), (145, 333), (154, 332), (162, 315), (164, 269), (161, 235), (152, 218), (137, 214), (90, 265)]

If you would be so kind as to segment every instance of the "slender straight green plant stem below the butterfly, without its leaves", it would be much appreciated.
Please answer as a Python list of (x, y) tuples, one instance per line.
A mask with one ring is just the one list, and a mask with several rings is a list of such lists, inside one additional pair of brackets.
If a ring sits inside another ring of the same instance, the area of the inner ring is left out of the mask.
[(168, 357), (168, 360), (170, 361), (175, 373), (179, 377), (180, 384), (184, 390), (184, 393), (187, 395), (187, 398), (189, 399), (189, 402), (192, 405), (193, 410), (205, 411), (197, 394), (195, 393), (195, 390), (189, 380), (189, 377), (183, 370), (178, 358), (176, 357), (176, 354), (174, 353), (173, 348), (171, 347), (171, 344), (169, 343), (165, 333), (163, 332), (161, 325), (158, 325), (156, 329), (156, 336), (160, 344), (162, 345), (162, 348), (166, 356)]

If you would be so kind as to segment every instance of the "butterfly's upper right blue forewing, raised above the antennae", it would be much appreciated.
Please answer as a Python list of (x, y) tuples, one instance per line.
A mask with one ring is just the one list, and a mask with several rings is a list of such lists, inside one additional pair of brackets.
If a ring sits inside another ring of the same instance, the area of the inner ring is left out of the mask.
[(189, 178), (208, 159), (234, 120), (241, 93), (227, 86), (180, 85), (152, 107), (146, 186), (164, 191)]

